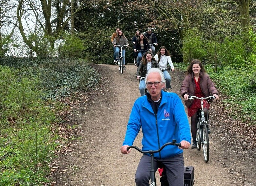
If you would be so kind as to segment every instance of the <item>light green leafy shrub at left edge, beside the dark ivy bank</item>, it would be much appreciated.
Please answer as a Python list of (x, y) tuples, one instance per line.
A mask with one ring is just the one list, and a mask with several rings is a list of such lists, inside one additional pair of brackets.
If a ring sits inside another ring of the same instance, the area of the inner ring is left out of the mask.
[(0, 118), (16, 117), (27, 111), (40, 92), (35, 89), (38, 81), (35, 78), (19, 79), (8, 67), (0, 66)]

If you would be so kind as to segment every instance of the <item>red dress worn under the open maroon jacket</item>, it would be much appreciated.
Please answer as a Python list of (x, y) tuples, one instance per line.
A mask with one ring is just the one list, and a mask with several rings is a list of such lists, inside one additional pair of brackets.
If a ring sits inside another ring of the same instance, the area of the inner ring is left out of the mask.
[[(200, 76), (198, 78), (198, 81), (196, 82), (196, 79), (194, 77), (194, 81), (195, 81), (195, 84), (196, 84), (196, 87), (195, 87), (195, 96), (196, 97), (204, 97), (204, 94), (202, 93), (201, 91), (201, 88), (200, 88)], [(207, 103), (206, 105), (206, 101), (204, 101), (204, 108), (206, 107), (207, 109), (209, 109), (210, 107), (210, 104)], [(193, 116), (197, 111), (198, 109), (201, 108), (201, 100), (200, 99), (194, 99), (193, 100), (193, 104), (191, 105), (191, 107), (188, 107), (187, 108), (187, 112), (188, 112), (188, 117), (191, 117)]]

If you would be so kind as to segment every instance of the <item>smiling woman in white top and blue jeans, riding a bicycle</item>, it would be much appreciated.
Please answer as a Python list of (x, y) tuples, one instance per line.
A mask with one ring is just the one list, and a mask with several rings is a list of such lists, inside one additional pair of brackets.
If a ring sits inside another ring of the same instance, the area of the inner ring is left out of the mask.
[(165, 48), (165, 46), (161, 46), (158, 50), (157, 54), (154, 56), (157, 63), (159, 64), (160, 69), (163, 72), (164, 78), (166, 80), (166, 88), (170, 92), (171, 89), (171, 76), (167, 71), (167, 65), (169, 63), (171, 70), (174, 71), (174, 66), (172, 63), (170, 52)]

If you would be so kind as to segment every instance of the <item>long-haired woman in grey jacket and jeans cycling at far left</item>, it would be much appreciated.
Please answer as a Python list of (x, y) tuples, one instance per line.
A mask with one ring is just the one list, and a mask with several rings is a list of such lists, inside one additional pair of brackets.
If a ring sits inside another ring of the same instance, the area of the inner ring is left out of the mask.
[[(129, 43), (128, 43), (128, 40), (126, 39), (125, 35), (123, 34), (122, 30), (119, 30), (118, 31), (118, 35), (115, 37), (114, 41), (113, 41), (113, 46), (116, 48), (116, 63), (118, 61), (118, 55), (119, 55), (119, 51), (120, 51), (120, 48), (119, 47), (116, 47), (116, 45), (127, 45), (127, 47), (129, 47)], [(125, 48), (123, 48), (123, 52), (122, 52), (122, 55), (124, 57), (124, 66), (123, 66), (123, 69), (125, 70)]]

